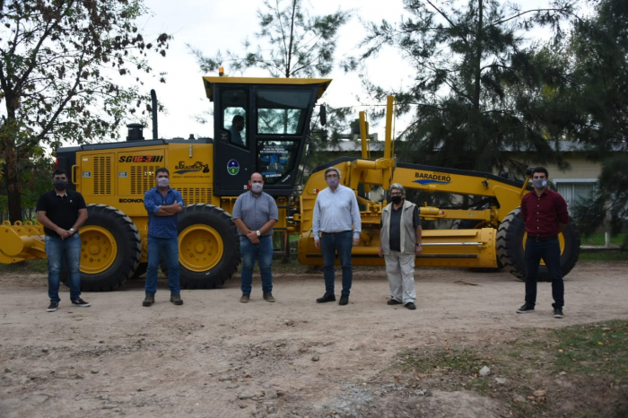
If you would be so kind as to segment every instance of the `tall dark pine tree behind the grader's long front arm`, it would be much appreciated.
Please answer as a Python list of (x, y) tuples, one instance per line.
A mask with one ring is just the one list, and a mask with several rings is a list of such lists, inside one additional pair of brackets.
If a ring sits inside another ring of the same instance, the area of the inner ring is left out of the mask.
[[(560, 63), (543, 48), (527, 48), (524, 35), (549, 26), (560, 39), (571, 4), (538, 10), (484, 0), (405, 5), (410, 17), (371, 23), (362, 43), (363, 57), (392, 46), (414, 65), (414, 84), (393, 91), (399, 111), (414, 115), (397, 152), (404, 161), (519, 175), (532, 162), (566, 168), (554, 152), (563, 138), (546, 127), (545, 95), (560, 85)], [(366, 84), (379, 100), (390, 93)], [(504, 150), (535, 152), (534, 161), (516, 161)]]

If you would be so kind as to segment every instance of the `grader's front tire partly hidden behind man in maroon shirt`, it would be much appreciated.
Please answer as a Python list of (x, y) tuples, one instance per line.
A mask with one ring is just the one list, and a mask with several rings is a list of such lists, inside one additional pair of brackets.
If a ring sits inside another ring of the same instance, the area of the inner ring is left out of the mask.
[[(526, 227), (518, 207), (508, 214), (497, 230), (497, 254), (504, 269), (519, 280), (526, 280), (525, 252)], [(561, 238), (561, 270), (563, 276), (569, 274), (580, 256), (580, 232), (575, 223), (569, 220)], [(538, 282), (551, 282), (552, 276), (545, 264), (541, 264), (536, 274)]]

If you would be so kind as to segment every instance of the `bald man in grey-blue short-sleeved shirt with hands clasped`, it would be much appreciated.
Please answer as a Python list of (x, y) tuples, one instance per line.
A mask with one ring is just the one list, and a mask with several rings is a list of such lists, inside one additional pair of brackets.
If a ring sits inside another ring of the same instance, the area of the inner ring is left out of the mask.
[(242, 254), (242, 297), (240, 302), (250, 299), (253, 282), (255, 258), (262, 276), (264, 300), (274, 302), (273, 297), (273, 225), (279, 220), (275, 199), (264, 193), (264, 179), (259, 173), (253, 173), (249, 180), (250, 191), (238, 196), (233, 205), (233, 222), (240, 234), (240, 253)]

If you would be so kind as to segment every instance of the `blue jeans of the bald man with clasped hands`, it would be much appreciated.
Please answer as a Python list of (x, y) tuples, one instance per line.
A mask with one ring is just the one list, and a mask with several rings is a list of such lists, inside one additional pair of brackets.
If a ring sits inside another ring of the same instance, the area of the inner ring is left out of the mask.
[(273, 236), (259, 237), (259, 244), (253, 244), (250, 239), (240, 235), (240, 254), (242, 254), (242, 271), (240, 280), (243, 294), (250, 294), (253, 283), (253, 266), (255, 258), (262, 275), (262, 292), (273, 292)]

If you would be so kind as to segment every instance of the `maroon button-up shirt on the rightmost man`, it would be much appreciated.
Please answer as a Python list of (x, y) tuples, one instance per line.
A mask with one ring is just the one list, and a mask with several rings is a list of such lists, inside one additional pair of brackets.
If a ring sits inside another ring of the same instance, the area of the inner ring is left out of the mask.
[(567, 224), (569, 213), (563, 196), (545, 188), (541, 196), (528, 193), (521, 199), (521, 217), (526, 223), (528, 236), (553, 237), (559, 234), (558, 223)]

